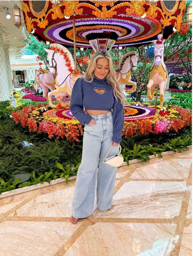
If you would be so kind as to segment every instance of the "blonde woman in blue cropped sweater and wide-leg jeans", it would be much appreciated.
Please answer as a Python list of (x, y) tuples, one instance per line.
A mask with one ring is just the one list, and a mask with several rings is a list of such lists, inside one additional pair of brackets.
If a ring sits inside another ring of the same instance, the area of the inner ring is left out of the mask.
[(92, 215), (96, 179), (99, 211), (111, 208), (117, 167), (103, 163), (103, 159), (111, 144), (114, 147), (107, 157), (119, 153), (124, 126), (124, 94), (115, 76), (109, 52), (96, 51), (90, 58), (86, 75), (78, 78), (72, 89), (70, 111), (85, 125), (82, 161), (72, 201), (72, 223)]

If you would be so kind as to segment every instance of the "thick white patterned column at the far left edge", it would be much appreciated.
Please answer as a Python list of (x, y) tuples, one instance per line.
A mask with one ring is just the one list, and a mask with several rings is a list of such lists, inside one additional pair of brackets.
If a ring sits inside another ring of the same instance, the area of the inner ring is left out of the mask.
[(3, 27), (0, 26), (0, 101), (9, 100), (9, 86), (7, 79), (7, 68), (5, 61), (5, 51), (3, 47), (3, 35), (5, 31)]

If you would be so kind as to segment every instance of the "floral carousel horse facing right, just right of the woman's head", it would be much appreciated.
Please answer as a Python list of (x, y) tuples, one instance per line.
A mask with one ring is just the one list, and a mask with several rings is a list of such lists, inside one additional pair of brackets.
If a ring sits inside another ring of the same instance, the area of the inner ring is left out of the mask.
[[(132, 85), (130, 93), (136, 91), (137, 83), (131, 81), (131, 68), (133, 70), (136, 70), (137, 68), (137, 61), (138, 61), (138, 54), (136, 54), (136, 51), (128, 52), (126, 53), (119, 62), (119, 68), (117, 70), (118, 73), (118, 83), (126, 84), (126, 85)], [(132, 67), (131, 67), (132, 64)]]

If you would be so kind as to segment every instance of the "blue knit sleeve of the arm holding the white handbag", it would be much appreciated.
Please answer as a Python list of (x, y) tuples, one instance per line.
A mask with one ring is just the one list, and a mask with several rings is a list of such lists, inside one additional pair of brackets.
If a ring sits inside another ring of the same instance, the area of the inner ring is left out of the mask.
[[(117, 102), (118, 100), (118, 102)], [(119, 98), (115, 99), (112, 107), (112, 118), (113, 118), (113, 136), (112, 141), (120, 143), (122, 140), (121, 134), (124, 126), (124, 106), (121, 104)]]

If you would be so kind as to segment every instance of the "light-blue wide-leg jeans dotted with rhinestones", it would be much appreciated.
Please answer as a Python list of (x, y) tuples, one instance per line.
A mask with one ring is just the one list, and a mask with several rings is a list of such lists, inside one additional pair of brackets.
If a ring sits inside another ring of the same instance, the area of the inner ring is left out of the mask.
[[(82, 161), (78, 168), (72, 201), (72, 216), (74, 218), (85, 218), (92, 215), (95, 189), (99, 211), (110, 209), (115, 189), (117, 167), (103, 163), (105, 154), (111, 146), (113, 135), (112, 111), (91, 116), (96, 125), (84, 126)], [(114, 146), (110, 149), (107, 157), (118, 153), (119, 146)]]

